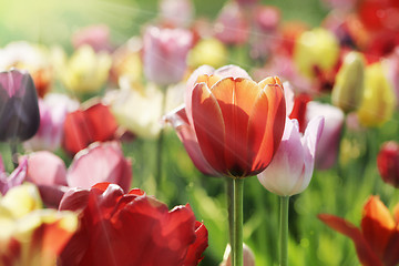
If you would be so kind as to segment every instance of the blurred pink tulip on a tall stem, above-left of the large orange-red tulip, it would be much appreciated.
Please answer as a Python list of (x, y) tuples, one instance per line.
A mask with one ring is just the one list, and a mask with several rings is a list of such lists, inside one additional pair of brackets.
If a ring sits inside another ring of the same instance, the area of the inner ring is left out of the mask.
[(192, 43), (193, 35), (190, 31), (149, 27), (143, 43), (146, 79), (158, 85), (181, 81), (187, 68), (186, 58)]

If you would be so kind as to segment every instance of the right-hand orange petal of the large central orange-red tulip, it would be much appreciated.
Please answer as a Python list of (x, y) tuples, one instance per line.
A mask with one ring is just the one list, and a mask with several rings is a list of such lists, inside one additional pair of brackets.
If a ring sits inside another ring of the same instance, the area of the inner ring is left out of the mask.
[(263, 171), (270, 163), (282, 141), (286, 116), (279, 80), (268, 78), (259, 86), (264, 88), (264, 93), (255, 102), (248, 123), (248, 146), (254, 147), (254, 172)]

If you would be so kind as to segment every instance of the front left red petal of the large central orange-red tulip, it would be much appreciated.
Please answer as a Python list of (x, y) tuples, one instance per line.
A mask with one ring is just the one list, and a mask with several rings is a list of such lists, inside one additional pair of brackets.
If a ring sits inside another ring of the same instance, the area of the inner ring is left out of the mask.
[(205, 83), (198, 83), (193, 90), (193, 126), (198, 144), (206, 161), (212, 167), (226, 173), (224, 145), (225, 125), (221, 106)]

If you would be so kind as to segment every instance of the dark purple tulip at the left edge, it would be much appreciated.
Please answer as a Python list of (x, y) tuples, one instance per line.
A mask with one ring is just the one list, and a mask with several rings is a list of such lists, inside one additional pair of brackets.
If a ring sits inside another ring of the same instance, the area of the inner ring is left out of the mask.
[(25, 141), (40, 124), (38, 96), (27, 71), (0, 72), (0, 141)]

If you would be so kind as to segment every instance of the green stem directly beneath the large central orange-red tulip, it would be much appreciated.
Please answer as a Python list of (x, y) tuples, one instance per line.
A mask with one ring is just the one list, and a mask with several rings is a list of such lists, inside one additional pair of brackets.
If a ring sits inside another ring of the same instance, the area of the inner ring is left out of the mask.
[(243, 194), (244, 180), (233, 180), (232, 265), (243, 266)]

